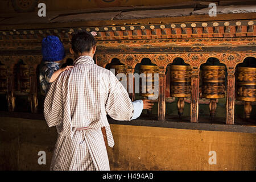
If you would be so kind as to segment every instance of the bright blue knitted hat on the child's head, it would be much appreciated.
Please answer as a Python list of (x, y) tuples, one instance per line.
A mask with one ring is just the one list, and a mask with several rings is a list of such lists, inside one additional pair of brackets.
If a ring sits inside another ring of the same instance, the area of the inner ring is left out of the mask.
[(42, 41), (43, 61), (60, 61), (65, 57), (65, 49), (60, 39), (49, 35)]

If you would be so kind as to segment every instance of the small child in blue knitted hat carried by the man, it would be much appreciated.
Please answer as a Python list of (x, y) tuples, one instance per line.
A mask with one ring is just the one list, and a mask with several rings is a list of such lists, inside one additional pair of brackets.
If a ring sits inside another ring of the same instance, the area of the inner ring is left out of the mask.
[(49, 84), (56, 80), (60, 73), (72, 66), (61, 68), (61, 62), (65, 58), (65, 49), (57, 36), (49, 35), (42, 41), (43, 61), (40, 66), (39, 81), (45, 93)]

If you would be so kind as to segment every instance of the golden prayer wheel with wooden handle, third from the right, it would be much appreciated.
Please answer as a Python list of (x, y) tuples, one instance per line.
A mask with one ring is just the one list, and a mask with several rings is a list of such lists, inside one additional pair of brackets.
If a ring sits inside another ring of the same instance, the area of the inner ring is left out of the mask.
[(171, 65), (170, 96), (177, 97), (179, 117), (184, 110), (184, 97), (191, 97), (191, 67), (189, 65)]

